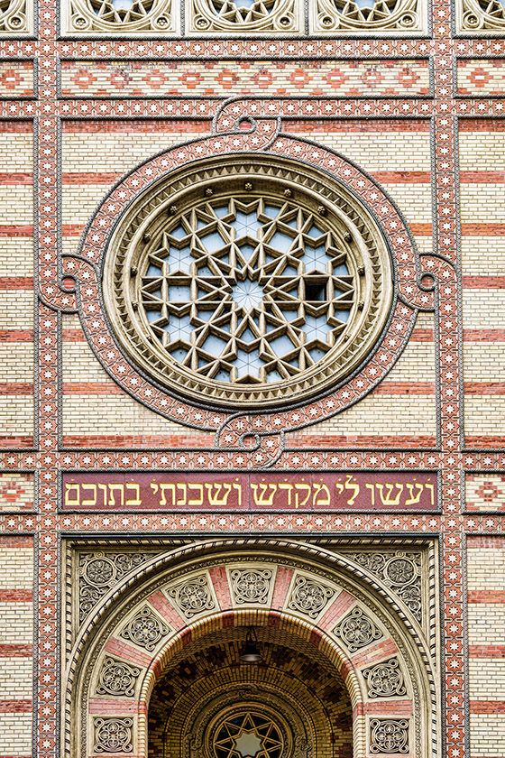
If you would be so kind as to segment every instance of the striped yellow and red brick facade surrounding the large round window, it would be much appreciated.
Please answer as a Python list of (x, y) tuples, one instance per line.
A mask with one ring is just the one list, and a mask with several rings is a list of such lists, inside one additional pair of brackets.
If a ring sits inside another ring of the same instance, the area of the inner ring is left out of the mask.
[[(474, 21), (470, 0), (436, 0), (426, 33), (426, 4), (411, 3), (410, 27), (309, 35), (323, 15), (291, 5), (284, 31), (243, 33), (195, 32), (190, 4), (173, 2), (165, 31), (77, 32), (69, 3), (60, 29), (53, 0), (33, 34), (28, 0), (22, 26), (2, 16), (0, 758), (93, 758), (119, 722), (113, 754), (182, 755), (198, 698), (210, 714), (214, 697), (251, 687), (279, 698), (279, 723), (307, 707), (315, 758), (505, 754), (503, 26), (482, 8)], [(369, 355), (298, 405), (168, 391), (124, 356), (104, 310), (102, 256), (130, 200), (234, 153), (336, 178), (395, 262)], [(65, 508), (62, 472), (97, 476), (80, 510)], [(291, 499), (298, 485), (326, 502), (335, 472), (342, 506)], [(262, 477), (262, 499), (226, 508), (219, 477), (232, 491), (245, 473)], [(158, 503), (161, 482), (172, 503), (183, 493), (180, 507), (141, 507), (140, 474)], [(426, 476), (433, 503), (420, 507)], [(123, 481), (136, 505), (107, 499)], [(204, 485), (216, 494), (200, 509)], [(89, 505), (100, 486), (102, 510)], [(240, 605), (229, 567), (255, 550), (275, 576)], [(398, 584), (384, 568), (395, 560)], [(185, 574), (207, 582), (202, 615), (177, 605)], [(321, 615), (289, 605), (298, 576), (328, 593)], [(363, 613), (372, 636), (349, 651), (335, 629)], [(124, 633), (147, 616), (165, 630), (152, 649)], [(265, 657), (248, 672), (250, 626)], [(371, 689), (379, 664), (404, 678), (392, 697)], [(107, 666), (134, 695), (107, 689)], [(397, 742), (382, 750), (388, 720)]]

